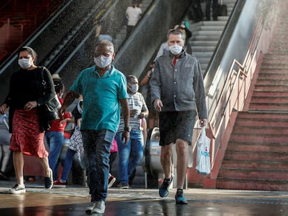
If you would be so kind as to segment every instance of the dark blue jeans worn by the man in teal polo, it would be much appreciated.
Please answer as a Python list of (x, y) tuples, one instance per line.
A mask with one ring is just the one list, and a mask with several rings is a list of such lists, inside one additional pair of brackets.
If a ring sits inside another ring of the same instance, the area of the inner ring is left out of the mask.
[(107, 197), (109, 156), (114, 133), (109, 130), (81, 131), (83, 147), (88, 158), (88, 185), (91, 202), (105, 201)]

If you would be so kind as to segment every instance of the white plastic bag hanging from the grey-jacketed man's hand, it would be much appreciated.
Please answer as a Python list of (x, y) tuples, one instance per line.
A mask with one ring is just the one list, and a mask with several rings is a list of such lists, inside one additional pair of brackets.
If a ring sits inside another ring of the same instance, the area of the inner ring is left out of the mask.
[(207, 175), (211, 172), (210, 165), (210, 139), (206, 136), (205, 127), (201, 128), (201, 136), (197, 143), (197, 166), (199, 174)]

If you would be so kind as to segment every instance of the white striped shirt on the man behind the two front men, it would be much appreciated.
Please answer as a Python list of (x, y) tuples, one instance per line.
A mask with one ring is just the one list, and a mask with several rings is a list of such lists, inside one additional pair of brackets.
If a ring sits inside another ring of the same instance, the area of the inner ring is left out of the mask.
[[(129, 120), (131, 130), (143, 131), (143, 128), (141, 127), (141, 119), (138, 118), (138, 115), (140, 113), (148, 110), (143, 95), (140, 92), (136, 92), (135, 94), (129, 94), (128, 104), (129, 110), (137, 110), (135, 117), (130, 117)], [(118, 132), (122, 131), (124, 131), (124, 119), (121, 115)]]

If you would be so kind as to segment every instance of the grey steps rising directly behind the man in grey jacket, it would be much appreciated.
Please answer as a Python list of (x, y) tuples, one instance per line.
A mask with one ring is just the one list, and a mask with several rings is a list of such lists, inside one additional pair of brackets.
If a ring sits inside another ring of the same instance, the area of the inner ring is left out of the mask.
[[(236, 0), (223, 0), (223, 4), (227, 5), (227, 16), (218, 17), (218, 21), (189, 22), (193, 33), (189, 42), (192, 47), (193, 55), (196, 56), (200, 62), (203, 73), (209, 64), (211, 56), (218, 44), (218, 40), (221, 38), (235, 3)], [(202, 4), (202, 11), (205, 14), (205, 3)]]

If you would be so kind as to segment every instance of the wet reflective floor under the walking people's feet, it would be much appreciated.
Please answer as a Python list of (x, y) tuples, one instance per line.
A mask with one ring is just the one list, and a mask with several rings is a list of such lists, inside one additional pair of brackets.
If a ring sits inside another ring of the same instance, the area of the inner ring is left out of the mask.
[[(31, 183), (25, 194), (8, 194), (9, 188), (10, 183), (0, 183), (0, 216), (86, 215), (90, 203), (86, 187), (45, 190)], [(160, 198), (154, 189), (111, 188), (102, 215), (288, 215), (288, 192), (188, 189), (184, 190), (188, 205), (176, 205), (175, 192), (172, 189), (168, 197)]]

